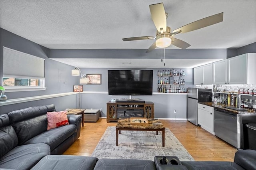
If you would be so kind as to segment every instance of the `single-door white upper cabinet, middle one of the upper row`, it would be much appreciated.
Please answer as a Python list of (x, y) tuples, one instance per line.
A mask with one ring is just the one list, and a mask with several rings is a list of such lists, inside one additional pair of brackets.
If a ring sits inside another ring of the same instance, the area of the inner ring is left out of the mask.
[(227, 84), (227, 60), (221, 60), (212, 63), (213, 84)]

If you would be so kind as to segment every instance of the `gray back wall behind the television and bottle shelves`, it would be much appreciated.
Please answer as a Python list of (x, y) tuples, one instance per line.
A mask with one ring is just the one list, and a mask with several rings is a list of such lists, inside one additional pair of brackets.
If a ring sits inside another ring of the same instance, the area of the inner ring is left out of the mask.
[[(119, 68), (122, 69), (122, 68)], [(138, 68), (136, 68), (138, 69)], [(180, 68), (176, 68), (180, 70)], [(182, 68), (181, 68), (182, 69)], [(86, 92), (108, 92), (108, 70), (106, 68), (81, 68), (81, 72), (84, 74), (101, 74), (101, 85), (83, 85), (84, 91)], [(112, 69), (113, 70), (113, 69)], [(118, 69), (117, 69), (118, 70)], [(127, 69), (126, 69), (127, 70)], [(150, 69), (153, 70), (153, 92), (157, 92), (158, 88), (158, 70), (163, 70), (162, 68)], [(186, 73), (184, 78), (186, 86), (182, 87), (194, 87), (192, 78), (192, 68), (182, 69)], [(79, 79), (79, 78), (77, 78)], [(178, 79), (176, 77), (176, 79)], [(116, 96), (108, 94), (82, 94), (81, 95), (81, 106), (84, 109), (103, 109), (102, 117), (106, 117), (106, 103), (110, 101), (111, 98), (128, 99), (129, 96)], [(152, 95), (152, 96), (132, 96), (132, 98), (139, 98), (144, 101), (152, 101), (154, 103), (155, 117), (158, 118), (175, 118), (173, 112), (174, 109), (177, 111), (177, 118), (186, 119), (186, 105), (187, 105), (187, 95)]]

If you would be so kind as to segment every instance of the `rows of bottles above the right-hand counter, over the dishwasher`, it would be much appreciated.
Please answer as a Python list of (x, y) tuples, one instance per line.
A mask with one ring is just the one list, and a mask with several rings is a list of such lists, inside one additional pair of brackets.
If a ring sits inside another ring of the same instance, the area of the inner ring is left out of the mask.
[[(224, 88), (223, 88), (224, 87)], [(241, 108), (256, 111), (256, 87), (213, 86), (212, 102), (238, 107), (237, 95), (241, 95)]]

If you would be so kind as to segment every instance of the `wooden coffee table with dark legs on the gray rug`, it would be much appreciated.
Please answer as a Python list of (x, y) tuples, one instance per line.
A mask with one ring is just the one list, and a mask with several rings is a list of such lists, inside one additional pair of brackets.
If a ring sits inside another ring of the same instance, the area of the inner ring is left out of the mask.
[(119, 118), (116, 124), (116, 146), (118, 146), (118, 134), (121, 130), (158, 131), (162, 132), (162, 147), (164, 147), (164, 125), (158, 119), (148, 119), (148, 125), (130, 125), (130, 118)]

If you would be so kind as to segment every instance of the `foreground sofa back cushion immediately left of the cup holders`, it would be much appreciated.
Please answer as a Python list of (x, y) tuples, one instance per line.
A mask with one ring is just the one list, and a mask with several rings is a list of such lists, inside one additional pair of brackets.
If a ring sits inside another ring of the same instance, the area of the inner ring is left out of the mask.
[(95, 170), (156, 170), (152, 160), (137, 159), (100, 159), (96, 163)]

